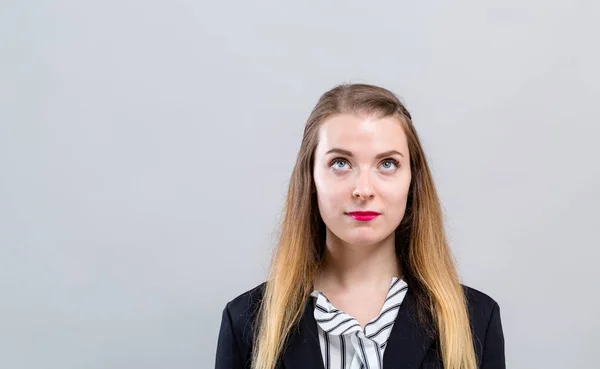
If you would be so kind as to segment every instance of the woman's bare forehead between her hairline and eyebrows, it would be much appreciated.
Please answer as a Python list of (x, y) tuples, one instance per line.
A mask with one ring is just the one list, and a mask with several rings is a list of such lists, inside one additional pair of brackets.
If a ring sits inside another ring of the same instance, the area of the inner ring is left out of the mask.
[(319, 128), (317, 152), (331, 148), (350, 151), (398, 150), (408, 154), (408, 144), (402, 123), (396, 117), (362, 117), (335, 115)]

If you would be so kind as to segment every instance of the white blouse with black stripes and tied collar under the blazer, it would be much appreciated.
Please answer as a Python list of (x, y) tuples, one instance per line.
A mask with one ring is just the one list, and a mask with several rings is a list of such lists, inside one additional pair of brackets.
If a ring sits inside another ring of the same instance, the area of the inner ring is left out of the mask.
[(313, 291), (314, 317), (325, 369), (382, 369), (383, 353), (408, 286), (392, 278), (379, 315), (363, 329), (349, 314), (336, 309), (320, 291)]

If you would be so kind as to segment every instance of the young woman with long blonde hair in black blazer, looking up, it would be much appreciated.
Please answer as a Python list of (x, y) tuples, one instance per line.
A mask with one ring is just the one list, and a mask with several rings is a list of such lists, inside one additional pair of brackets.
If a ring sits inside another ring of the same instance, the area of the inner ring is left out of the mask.
[(225, 307), (216, 368), (505, 368), (498, 304), (460, 283), (392, 92), (346, 84), (318, 101), (269, 278)]

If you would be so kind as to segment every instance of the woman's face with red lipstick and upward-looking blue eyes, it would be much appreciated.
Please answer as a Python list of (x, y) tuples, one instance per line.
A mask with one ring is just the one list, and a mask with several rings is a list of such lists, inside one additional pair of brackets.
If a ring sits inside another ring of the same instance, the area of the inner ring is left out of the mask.
[(393, 234), (411, 181), (408, 144), (397, 118), (331, 117), (319, 129), (314, 160), (328, 239), (372, 245)]

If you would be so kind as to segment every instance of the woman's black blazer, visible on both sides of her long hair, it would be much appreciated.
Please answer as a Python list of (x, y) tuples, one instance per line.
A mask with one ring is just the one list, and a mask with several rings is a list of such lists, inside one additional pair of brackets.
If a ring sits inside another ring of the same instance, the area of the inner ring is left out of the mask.
[[(250, 369), (253, 334), (265, 283), (230, 301), (223, 310), (216, 369)], [(488, 295), (464, 286), (477, 363), (481, 369), (505, 369), (500, 308)], [(298, 329), (288, 337), (278, 369), (324, 369), (312, 299)], [(436, 337), (417, 322), (416, 303), (408, 289), (383, 355), (384, 369), (443, 368)]]

